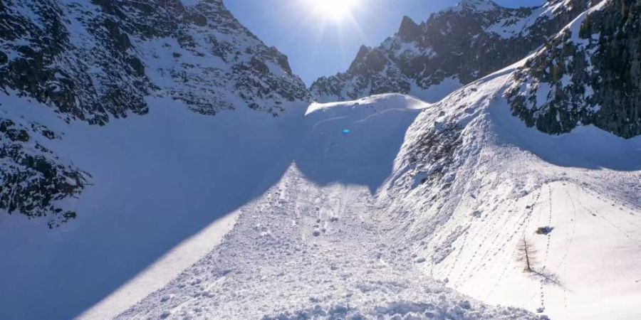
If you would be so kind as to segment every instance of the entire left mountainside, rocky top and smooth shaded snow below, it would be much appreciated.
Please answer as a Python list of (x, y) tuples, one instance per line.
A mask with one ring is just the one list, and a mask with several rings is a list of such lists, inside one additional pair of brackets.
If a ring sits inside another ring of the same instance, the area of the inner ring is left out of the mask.
[(283, 174), (308, 96), (222, 1), (1, 1), (0, 319), (169, 282)]

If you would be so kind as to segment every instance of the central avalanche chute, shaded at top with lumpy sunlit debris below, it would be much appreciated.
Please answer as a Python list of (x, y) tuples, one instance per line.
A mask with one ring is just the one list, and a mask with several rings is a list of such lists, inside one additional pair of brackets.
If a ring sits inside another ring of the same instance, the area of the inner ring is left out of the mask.
[(117, 319), (538, 319), (443, 289), (408, 244), (387, 245), (372, 186), (430, 108), (402, 95), (311, 105), (295, 161), (222, 245)]

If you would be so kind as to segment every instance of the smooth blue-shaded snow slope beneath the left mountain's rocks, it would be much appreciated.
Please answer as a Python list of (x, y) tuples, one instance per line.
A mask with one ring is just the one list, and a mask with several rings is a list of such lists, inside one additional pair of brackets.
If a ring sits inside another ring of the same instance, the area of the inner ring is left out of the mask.
[[(260, 196), (291, 163), (300, 139), (291, 134), (298, 132), (292, 119), (306, 106), (288, 105), (278, 118), (253, 110), (205, 117), (175, 100), (150, 98), (149, 114), (95, 127), (67, 124), (21, 97), (0, 100), (3, 116), (61, 132), (63, 139), (41, 144), (91, 174), (82, 195), (61, 203), (83, 213), (73, 223), (50, 231), (46, 221), (0, 215), (0, 287), (11, 288), (0, 319), (71, 319)], [(222, 223), (205, 238), (215, 240), (226, 228)], [(162, 287), (216, 243), (199, 245), (127, 303)]]

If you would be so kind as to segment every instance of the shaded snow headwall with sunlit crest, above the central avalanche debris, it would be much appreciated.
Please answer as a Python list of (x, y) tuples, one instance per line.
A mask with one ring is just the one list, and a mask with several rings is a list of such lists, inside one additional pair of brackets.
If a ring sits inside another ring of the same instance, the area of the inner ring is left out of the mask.
[[(426, 102), (397, 94), (315, 103), (303, 121), (306, 142), (296, 165), (321, 185), (357, 184), (374, 193), (392, 171), (405, 130), (427, 107)], [(344, 129), (350, 130), (349, 136)]]

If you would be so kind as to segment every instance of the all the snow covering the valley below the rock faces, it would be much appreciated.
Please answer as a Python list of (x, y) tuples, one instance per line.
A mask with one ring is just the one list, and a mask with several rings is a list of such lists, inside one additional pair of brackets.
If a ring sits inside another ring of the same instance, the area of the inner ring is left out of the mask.
[[(145, 43), (165, 90), (168, 41)], [(504, 97), (523, 61), (276, 118), (157, 94), (94, 127), (0, 93), (3, 117), (60, 132), (41, 144), (92, 174), (61, 228), (0, 213), (0, 318), (639, 319), (641, 137), (527, 128)]]

